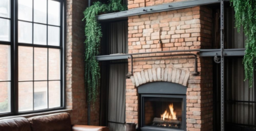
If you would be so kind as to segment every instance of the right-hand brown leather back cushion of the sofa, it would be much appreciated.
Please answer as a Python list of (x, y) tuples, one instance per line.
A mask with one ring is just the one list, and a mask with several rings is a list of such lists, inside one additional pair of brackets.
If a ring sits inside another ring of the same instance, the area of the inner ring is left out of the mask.
[(68, 113), (41, 115), (28, 119), (33, 131), (70, 131), (71, 120)]

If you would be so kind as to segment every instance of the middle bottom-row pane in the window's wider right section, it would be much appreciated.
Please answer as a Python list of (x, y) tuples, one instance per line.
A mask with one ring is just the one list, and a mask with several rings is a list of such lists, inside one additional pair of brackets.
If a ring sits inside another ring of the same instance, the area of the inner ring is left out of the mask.
[(47, 109), (47, 81), (34, 83), (34, 109)]

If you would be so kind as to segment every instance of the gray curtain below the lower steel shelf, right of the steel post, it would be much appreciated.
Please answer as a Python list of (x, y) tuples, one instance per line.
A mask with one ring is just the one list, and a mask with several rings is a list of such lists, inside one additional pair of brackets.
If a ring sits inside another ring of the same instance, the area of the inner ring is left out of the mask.
[[(242, 58), (226, 59), (226, 121), (236, 124), (256, 124), (255, 86), (244, 81)], [(249, 102), (248, 102), (249, 101)]]

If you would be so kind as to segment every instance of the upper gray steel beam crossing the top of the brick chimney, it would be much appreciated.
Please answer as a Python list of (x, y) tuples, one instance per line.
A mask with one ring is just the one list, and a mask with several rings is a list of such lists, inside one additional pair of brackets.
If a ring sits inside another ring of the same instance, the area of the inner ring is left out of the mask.
[[(224, 0), (229, 1), (229, 0)], [(109, 14), (98, 15), (97, 18), (100, 21), (104, 20), (121, 20), (127, 19), (128, 16), (135, 16), (139, 14), (148, 14), (154, 12), (163, 12), (167, 10), (186, 9), (188, 7), (196, 7), (198, 5), (209, 5), (213, 3), (220, 3), (219, 0), (187, 0), (181, 2), (165, 3), (161, 5), (155, 5), (150, 7), (140, 7), (137, 9), (130, 9), (121, 12), (113, 12)]]

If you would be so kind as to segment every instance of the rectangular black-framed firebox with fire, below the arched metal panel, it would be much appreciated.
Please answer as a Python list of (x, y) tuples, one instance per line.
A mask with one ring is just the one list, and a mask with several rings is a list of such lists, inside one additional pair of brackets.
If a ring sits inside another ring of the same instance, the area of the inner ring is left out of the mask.
[(184, 130), (186, 95), (141, 94), (141, 130)]

